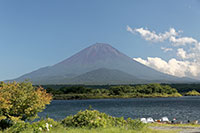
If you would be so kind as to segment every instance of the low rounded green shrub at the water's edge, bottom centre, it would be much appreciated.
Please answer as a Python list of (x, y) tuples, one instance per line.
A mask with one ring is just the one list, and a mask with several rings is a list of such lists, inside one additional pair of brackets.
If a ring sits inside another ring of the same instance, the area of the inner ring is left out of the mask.
[(101, 113), (97, 110), (80, 111), (74, 116), (68, 116), (62, 124), (66, 127), (79, 127), (79, 128), (107, 128), (107, 127), (120, 127), (129, 129), (140, 129), (145, 126), (140, 121), (127, 119), (123, 117), (117, 118)]

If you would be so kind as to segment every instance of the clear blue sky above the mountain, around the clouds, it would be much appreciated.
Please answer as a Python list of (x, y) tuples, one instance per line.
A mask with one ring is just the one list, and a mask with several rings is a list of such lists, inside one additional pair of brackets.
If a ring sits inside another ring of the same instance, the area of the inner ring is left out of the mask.
[(0, 80), (53, 65), (96, 42), (109, 43), (132, 58), (147, 61), (146, 65), (148, 57), (167, 63), (172, 58), (191, 61), (180, 59), (176, 51), (161, 50), (171, 42), (147, 41), (140, 33), (127, 31), (127, 26), (156, 34), (174, 28), (182, 31), (181, 36), (200, 41), (200, 1), (0, 1)]

